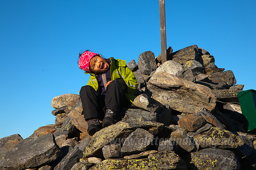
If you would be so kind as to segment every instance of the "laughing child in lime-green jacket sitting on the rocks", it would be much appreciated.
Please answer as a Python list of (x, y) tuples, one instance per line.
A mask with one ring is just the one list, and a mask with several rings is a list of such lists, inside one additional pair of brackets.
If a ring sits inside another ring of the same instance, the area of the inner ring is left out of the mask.
[(101, 129), (100, 117), (105, 114), (102, 126), (107, 127), (117, 122), (116, 114), (123, 103), (128, 101), (133, 105), (133, 92), (137, 89), (138, 82), (126, 66), (125, 60), (113, 57), (105, 59), (89, 50), (79, 56), (79, 68), (85, 74), (91, 74), (88, 84), (80, 90), (80, 98), (84, 118), (88, 123), (87, 131), (92, 136)]

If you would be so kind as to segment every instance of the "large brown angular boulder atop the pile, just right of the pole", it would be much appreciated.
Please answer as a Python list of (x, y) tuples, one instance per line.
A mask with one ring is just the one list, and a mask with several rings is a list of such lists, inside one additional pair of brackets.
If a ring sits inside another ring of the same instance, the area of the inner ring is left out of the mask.
[(197, 45), (188, 46), (186, 48), (173, 52), (170, 57), (173, 61), (177, 61), (180, 64), (184, 64), (186, 61), (189, 60), (198, 61), (198, 47)]

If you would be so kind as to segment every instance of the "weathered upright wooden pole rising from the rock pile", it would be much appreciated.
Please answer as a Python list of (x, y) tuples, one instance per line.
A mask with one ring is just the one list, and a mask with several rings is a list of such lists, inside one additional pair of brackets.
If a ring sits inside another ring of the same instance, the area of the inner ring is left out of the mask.
[(166, 29), (165, 29), (165, 0), (159, 0), (160, 34), (161, 34), (161, 56), (162, 64), (167, 61), (166, 55)]

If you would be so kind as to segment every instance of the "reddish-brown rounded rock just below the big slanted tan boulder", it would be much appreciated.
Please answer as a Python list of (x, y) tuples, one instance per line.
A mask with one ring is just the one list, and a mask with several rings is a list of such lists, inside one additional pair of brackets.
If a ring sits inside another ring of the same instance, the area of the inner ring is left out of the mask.
[(189, 132), (195, 132), (206, 124), (206, 120), (202, 116), (195, 113), (183, 117), (178, 122), (180, 127)]

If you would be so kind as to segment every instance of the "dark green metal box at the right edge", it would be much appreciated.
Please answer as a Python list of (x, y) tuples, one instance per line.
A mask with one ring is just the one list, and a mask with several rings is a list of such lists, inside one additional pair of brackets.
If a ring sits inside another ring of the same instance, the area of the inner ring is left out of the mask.
[(256, 91), (245, 90), (237, 93), (242, 114), (248, 120), (248, 131), (256, 130)]

